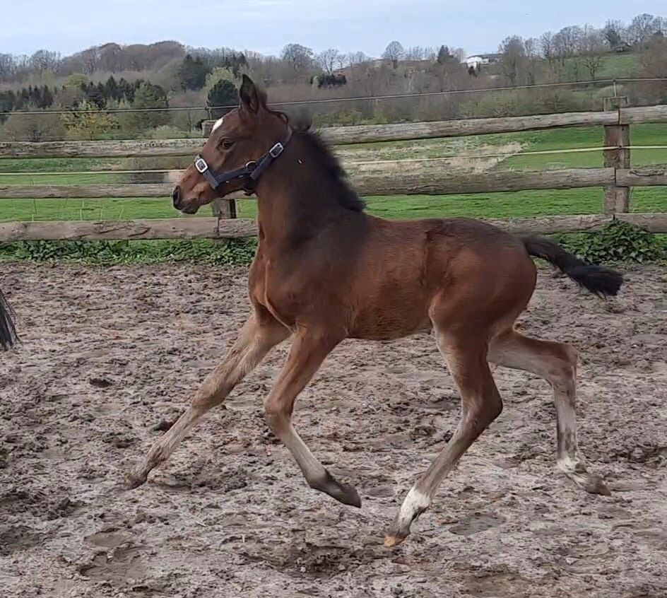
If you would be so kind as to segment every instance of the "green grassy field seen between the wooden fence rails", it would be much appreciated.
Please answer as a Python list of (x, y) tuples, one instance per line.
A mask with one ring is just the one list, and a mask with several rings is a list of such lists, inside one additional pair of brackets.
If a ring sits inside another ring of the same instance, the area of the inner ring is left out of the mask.
[[(626, 57), (619, 57), (626, 58)], [(633, 125), (633, 145), (667, 144), (667, 125)], [(454, 140), (404, 141), (374, 143), (354, 148), (341, 148), (346, 161), (397, 160), (428, 158), (450, 154), (504, 152), (508, 148), (521, 151), (551, 151), (562, 148), (597, 147), (602, 143), (601, 127), (553, 129), (521, 134), (470, 137)], [(473, 168), (475, 160), (429, 163), (430, 168)], [(590, 153), (545, 154), (512, 156), (488, 168), (498, 170), (541, 170), (547, 168), (594, 168), (603, 164), (601, 151)], [(632, 165), (667, 164), (667, 150), (635, 150)], [(1, 160), (4, 172), (22, 174), (0, 175), (0, 184), (113, 184), (126, 182), (120, 174), (71, 174), (40, 176), (42, 172), (76, 172), (91, 165), (97, 168), (122, 168), (121, 160)], [(358, 168), (358, 167), (353, 167)], [(415, 167), (416, 168), (416, 167)], [(386, 218), (422, 218), (431, 216), (477, 216), (505, 218), (574, 213), (600, 213), (601, 189), (572, 189), (564, 191), (526, 191), (455, 196), (396, 196), (369, 197), (369, 211)], [(252, 200), (239, 202), (240, 216), (254, 216)], [(667, 211), (667, 188), (633, 189), (632, 211)], [(177, 213), (168, 199), (0, 199), (0, 221), (45, 220), (124, 220), (131, 218), (172, 218)], [(200, 216), (210, 216), (203, 209)]]

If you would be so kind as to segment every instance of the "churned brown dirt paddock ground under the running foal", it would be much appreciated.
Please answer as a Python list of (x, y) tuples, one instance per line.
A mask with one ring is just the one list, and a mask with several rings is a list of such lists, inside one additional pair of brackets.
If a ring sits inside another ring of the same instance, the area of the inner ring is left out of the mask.
[(23, 346), (0, 354), (0, 596), (667, 595), (667, 271), (603, 302), (541, 272), (527, 334), (579, 349), (579, 443), (610, 497), (555, 466), (548, 385), (496, 370), (504, 411), (399, 549), (384, 531), (459, 399), (432, 337), (348, 341), (295, 423), (361, 510), (307, 487), (268, 433), (278, 348), (148, 483), (124, 473), (247, 315), (245, 269), (0, 264)]

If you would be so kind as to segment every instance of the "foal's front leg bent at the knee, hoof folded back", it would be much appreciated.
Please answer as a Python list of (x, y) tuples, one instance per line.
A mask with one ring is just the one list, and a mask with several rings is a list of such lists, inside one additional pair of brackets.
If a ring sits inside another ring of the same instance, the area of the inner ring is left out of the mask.
[(308, 485), (345, 505), (361, 506), (354, 486), (341, 484), (331, 476), (292, 425), (297, 395), (315, 375), (327, 355), (342, 339), (329, 334), (302, 331), (295, 336), (290, 355), (266, 399), (266, 418), (271, 431), (288, 447)]

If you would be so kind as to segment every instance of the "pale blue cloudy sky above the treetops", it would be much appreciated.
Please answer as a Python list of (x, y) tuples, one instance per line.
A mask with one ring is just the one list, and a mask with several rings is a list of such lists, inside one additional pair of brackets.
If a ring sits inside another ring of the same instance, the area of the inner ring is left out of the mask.
[(175, 40), (193, 47), (280, 53), (290, 42), (379, 57), (403, 47), (495, 52), (508, 35), (640, 13), (667, 16), (666, 0), (22, 0), (2, 3), (0, 53), (49, 49), (73, 54), (106, 42)]

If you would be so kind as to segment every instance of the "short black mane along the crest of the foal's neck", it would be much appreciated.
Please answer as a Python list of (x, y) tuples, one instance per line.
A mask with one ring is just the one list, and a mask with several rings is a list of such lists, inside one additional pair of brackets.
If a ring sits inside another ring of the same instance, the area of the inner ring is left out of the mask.
[[(284, 112), (275, 112), (275, 114), (280, 115), (285, 119), (285, 122), (288, 122), (288, 117)], [(292, 124), (293, 134), (304, 143), (309, 156), (324, 170), (329, 180), (328, 182), (335, 187), (335, 195), (341, 206), (355, 212), (364, 211), (366, 202), (350, 186), (348, 175), (341, 166), (338, 158), (334, 156), (326, 141), (321, 139), (321, 136), (310, 127), (309, 120), (305, 118), (295, 119), (295, 122)]]

